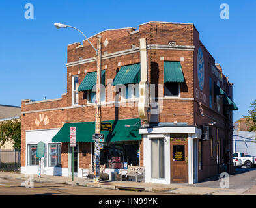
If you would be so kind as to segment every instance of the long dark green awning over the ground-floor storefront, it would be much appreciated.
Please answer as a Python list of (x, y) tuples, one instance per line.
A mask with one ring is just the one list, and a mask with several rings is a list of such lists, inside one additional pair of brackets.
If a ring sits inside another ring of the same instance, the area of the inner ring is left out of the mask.
[[(141, 140), (141, 135), (139, 135), (141, 120), (139, 118), (102, 122), (112, 123), (112, 131), (101, 132), (104, 133), (106, 142)], [(53, 137), (52, 142), (70, 142), (70, 127), (74, 126), (76, 127), (77, 142), (94, 142), (92, 135), (95, 133), (95, 122), (66, 123)]]

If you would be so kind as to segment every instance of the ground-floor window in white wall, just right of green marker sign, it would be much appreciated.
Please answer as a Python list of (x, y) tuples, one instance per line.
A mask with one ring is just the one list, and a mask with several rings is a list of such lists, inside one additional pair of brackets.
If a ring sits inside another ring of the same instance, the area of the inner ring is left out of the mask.
[(61, 144), (48, 144), (48, 166), (61, 166)]

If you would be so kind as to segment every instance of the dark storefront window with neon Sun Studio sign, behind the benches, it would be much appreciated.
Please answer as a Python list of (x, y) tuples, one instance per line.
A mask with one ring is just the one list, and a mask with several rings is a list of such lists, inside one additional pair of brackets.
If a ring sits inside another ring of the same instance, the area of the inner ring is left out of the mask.
[(139, 166), (139, 142), (133, 144), (105, 143), (104, 149), (100, 151), (100, 164), (105, 164), (106, 168), (111, 169), (124, 169), (128, 165)]

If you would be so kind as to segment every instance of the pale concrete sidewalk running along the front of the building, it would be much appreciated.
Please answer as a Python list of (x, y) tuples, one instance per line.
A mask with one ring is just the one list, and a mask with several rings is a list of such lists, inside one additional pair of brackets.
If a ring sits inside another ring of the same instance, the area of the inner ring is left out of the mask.
[[(14, 172), (0, 172), (0, 179), (18, 179), (26, 181), (28, 177), (25, 174), (19, 174)], [(78, 185), (83, 187), (96, 187), (96, 188), (107, 188), (107, 189), (120, 189), (120, 190), (140, 190), (147, 192), (162, 192), (163, 194), (189, 194), (189, 195), (240, 195), (246, 192), (248, 188), (231, 189), (231, 188), (210, 188), (210, 187), (194, 187), (188, 184), (158, 184), (158, 183), (143, 183), (134, 181), (101, 181), (99, 184), (94, 184), (92, 179), (81, 179), (74, 177), (63, 177), (63, 176), (50, 176), (34, 175), (34, 182), (40, 183), (59, 183), (66, 185)], [(124, 192), (125, 194), (125, 192)], [(143, 194), (143, 192), (141, 192)]]

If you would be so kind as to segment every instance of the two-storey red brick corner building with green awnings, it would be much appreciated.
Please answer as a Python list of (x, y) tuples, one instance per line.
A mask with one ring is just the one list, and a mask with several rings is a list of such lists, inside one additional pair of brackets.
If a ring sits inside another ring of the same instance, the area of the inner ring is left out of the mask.
[[(145, 166), (145, 181), (197, 183), (216, 174), (220, 164), (232, 171), (232, 84), (199, 40), (191, 23), (149, 22), (139, 29), (109, 29), (102, 36), (101, 164), (109, 174)], [(141, 59), (141, 38), (147, 59)], [(96, 46), (95, 46), (96, 47)], [(150, 84), (150, 120), (138, 114), (141, 66)], [(38, 173), (36, 144), (46, 145), (43, 174), (71, 174), (69, 127), (76, 126), (75, 172), (92, 164), (95, 126), (95, 51), (87, 41), (68, 45), (67, 91), (61, 98), (21, 105), (21, 172)]]

